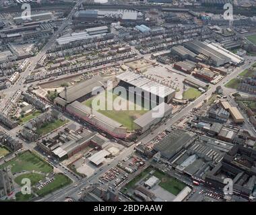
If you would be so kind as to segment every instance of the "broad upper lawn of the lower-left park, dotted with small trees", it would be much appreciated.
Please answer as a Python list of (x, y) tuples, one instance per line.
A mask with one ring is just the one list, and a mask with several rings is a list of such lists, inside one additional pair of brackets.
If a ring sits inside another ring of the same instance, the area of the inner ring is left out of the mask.
[(18, 173), (20, 171), (41, 171), (42, 173), (51, 173), (53, 167), (46, 163), (42, 158), (27, 150), (20, 153), (17, 157), (11, 159), (7, 163), (0, 166), (0, 169), (11, 165), (11, 172)]

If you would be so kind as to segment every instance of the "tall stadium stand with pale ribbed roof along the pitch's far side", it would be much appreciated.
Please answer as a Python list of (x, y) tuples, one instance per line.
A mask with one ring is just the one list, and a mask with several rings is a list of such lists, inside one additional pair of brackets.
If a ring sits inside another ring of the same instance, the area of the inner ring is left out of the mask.
[(174, 89), (130, 71), (117, 75), (116, 79), (119, 81), (119, 86), (134, 93), (136, 98), (150, 101), (151, 105), (152, 103), (158, 105), (162, 101), (169, 103), (175, 95)]

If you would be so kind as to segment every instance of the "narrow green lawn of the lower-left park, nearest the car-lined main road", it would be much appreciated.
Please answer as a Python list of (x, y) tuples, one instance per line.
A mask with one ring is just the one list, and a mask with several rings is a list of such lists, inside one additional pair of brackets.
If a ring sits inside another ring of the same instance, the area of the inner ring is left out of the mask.
[(71, 179), (69, 177), (63, 175), (62, 173), (59, 173), (55, 175), (55, 179), (53, 182), (49, 183), (48, 185), (45, 185), (42, 187), (42, 189), (37, 189), (36, 193), (38, 196), (45, 196), (48, 193), (52, 193), (53, 191), (56, 191), (57, 189), (64, 187), (65, 185), (69, 185), (71, 183)]

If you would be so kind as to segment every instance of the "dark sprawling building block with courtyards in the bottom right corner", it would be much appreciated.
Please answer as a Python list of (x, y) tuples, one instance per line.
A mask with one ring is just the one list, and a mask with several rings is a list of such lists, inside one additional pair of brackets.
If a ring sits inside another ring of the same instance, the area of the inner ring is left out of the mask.
[[(224, 177), (231, 177), (233, 194), (243, 198), (255, 197), (256, 150), (234, 145), (224, 156), (221, 163), (205, 175), (205, 185), (223, 191)], [(220, 177), (222, 175), (222, 177)]]

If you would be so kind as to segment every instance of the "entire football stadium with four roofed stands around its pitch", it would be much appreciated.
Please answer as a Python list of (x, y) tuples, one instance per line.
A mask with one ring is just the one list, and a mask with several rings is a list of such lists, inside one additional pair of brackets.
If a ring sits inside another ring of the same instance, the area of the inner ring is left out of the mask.
[[(164, 101), (170, 101), (175, 91), (142, 75), (126, 73), (118, 75), (112, 85), (96, 76), (67, 87), (59, 93), (55, 104), (116, 138), (146, 132), (170, 116), (172, 106)], [(126, 81), (123, 77), (130, 79)], [(161, 91), (150, 91), (150, 85)], [(139, 92), (131, 91), (131, 87), (137, 87)], [(163, 113), (154, 117), (160, 112)]]

